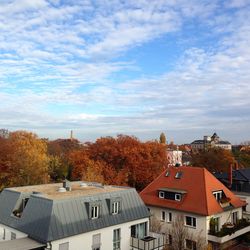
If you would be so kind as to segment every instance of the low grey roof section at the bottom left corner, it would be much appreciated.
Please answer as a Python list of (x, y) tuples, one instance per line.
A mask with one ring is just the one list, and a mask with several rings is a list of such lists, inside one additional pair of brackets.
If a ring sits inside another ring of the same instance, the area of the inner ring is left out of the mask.
[(41, 244), (30, 238), (0, 241), (1, 250), (31, 250), (31, 249), (40, 249), (45, 246), (46, 246), (45, 244)]

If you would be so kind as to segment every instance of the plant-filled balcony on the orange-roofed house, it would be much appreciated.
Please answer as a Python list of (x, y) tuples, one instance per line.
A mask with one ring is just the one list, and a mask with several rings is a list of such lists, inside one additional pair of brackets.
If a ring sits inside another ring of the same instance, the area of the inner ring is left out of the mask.
[(208, 240), (222, 244), (249, 231), (250, 223), (245, 219), (241, 219), (236, 225), (231, 223), (224, 224), (219, 232), (210, 231), (208, 234)]

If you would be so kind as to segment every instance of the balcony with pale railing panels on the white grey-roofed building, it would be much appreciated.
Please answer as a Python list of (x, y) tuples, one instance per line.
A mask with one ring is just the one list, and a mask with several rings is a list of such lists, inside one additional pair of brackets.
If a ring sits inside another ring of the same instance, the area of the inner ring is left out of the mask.
[(167, 237), (164, 234), (150, 232), (148, 236), (142, 239), (130, 238), (130, 246), (133, 250), (162, 250), (167, 243)]

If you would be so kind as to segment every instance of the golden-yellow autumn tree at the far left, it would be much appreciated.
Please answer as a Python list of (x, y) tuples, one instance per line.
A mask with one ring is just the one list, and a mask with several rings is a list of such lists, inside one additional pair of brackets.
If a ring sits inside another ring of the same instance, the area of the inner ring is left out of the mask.
[(37, 135), (16, 131), (1, 140), (1, 177), (5, 176), (8, 180), (4, 187), (47, 182), (47, 147)]

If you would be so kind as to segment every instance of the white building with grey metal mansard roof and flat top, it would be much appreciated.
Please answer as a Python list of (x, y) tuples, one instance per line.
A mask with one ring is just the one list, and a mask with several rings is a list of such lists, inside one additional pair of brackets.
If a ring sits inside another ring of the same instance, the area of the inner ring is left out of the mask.
[(15, 246), (18, 250), (134, 250), (135, 242), (163, 239), (149, 235), (149, 212), (135, 189), (87, 182), (4, 189), (1, 236), (0, 249), (5, 250)]

